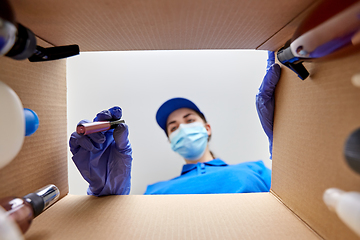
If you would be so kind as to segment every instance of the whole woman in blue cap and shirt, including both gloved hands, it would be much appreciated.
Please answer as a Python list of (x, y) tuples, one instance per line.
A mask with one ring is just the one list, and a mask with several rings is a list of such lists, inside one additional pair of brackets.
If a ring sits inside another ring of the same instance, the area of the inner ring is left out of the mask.
[[(260, 122), (269, 137), (272, 151), (274, 90), (280, 78), (280, 66), (269, 52), (266, 75), (256, 95)], [(97, 114), (94, 121), (117, 120), (121, 108), (113, 107)], [(270, 189), (271, 172), (262, 161), (227, 165), (215, 158), (208, 148), (211, 126), (205, 115), (190, 100), (173, 98), (157, 111), (156, 120), (170, 140), (171, 148), (185, 160), (180, 176), (149, 185), (145, 194), (243, 193)], [(82, 120), (80, 123), (87, 122)], [(132, 148), (128, 126), (80, 136), (74, 132), (69, 141), (73, 161), (89, 183), (89, 195), (129, 194)]]

